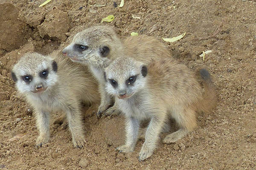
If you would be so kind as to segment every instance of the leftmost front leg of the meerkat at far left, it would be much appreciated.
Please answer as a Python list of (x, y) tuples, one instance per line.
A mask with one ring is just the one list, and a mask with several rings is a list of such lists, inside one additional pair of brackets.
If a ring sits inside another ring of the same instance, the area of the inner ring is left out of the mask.
[(49, 119), (50, 116), (48, 112), (36, 111), (36, 123), (39, 129), (39, 136), (35, 142), (36, 147), (41, 147), (50, 139)]

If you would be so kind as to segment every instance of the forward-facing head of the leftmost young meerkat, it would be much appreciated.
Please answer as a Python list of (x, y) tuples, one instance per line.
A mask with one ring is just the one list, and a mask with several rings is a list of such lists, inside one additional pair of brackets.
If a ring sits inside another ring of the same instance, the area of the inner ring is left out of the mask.
[(12, 79), (23, 94), (42, 94), (57, 82), (57, 63), (38, 53), (27, 53), (12, 69)]

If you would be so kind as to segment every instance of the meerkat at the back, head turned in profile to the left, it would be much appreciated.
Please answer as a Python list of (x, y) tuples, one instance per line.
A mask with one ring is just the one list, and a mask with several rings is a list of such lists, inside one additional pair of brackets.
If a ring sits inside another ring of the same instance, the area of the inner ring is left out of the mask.
[(115, 105), (108, 109), (113, 97), (106, 94), (104, 80), (104, 69), (113, 60), (126, 55), (144, 63), (151, 59), (170, 58), (166, 46), (154, 37), (140, 35), (122, 40), (109, 26), (93, 26), (77, 33), (62, 52), (73, 62), (88, 65), (98, 80), (101, 95), (98, 117), (102, 114), (111, 115), (116, 110)]

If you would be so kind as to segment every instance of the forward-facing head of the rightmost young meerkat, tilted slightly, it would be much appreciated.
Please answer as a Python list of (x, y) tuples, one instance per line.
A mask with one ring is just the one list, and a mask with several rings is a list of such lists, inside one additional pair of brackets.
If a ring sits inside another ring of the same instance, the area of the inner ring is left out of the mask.
[(119, 99), (128, 99), (144, 88), (147, 73), (142, 62), (119, 57), (105, 69), (106, 91)]

